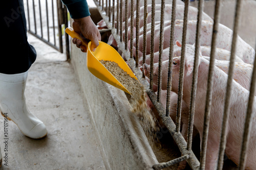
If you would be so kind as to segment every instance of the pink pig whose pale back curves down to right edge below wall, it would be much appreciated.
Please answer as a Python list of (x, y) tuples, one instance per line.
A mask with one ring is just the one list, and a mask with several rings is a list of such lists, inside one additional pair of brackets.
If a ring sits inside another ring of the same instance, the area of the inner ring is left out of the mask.
[[(164, 27), (164, 42), (163, 42), (163, 48), (167, 48), (169, 46), (169, 39), (170, 39), (170, 23), (169, 21), (165, 21), (165, 27)], [(187, 44), (194, 44), (195, 43), (195, 37), (196, 37), (196, 24), (197, 21), (195, 20), (189, 20), (188, 21), (188, 27), (187, 27), (187, 38), (186, 43)], [(202, 21), (202, 32), (201, 32), (201, 45), (202, 46), (210, 46), (211, 45), (211, 34), (212, 34), (212, 21)], [(175, 41), (182, 39), (182, 27), (183, 27), (183, 20), (176, 20), (175, 25)], [(155, 48), (154, 52), (159, 51), (159, 34), (160, 29), (156, 26), (155, 29)], [(230, 51), (231, 48), (231, 37), (232, 37), (232, 30), (229, 28), (219, 25), (219, 32), (217, 37), (217, 47), (223, 48), (224, 50)], [(151, 33), (147, 32), (147, 41), (150, 40)], [(143, 45), (143, 36), (140, 37), (140, 51), (142, 51), (142, 45)], [(134, 44), (135, 46), (135, 44)], [(236, 55), (240, 57), (244, 62), (246, 63), (252, 63), (254, 60), (255, 51), (253, 48), (247, 44), (244, 40), (242, 40), (241, 37), (238, 37), (237, 41), (237, 52)], [(150, 52), (150, 46), (147, 45), (146, 51)]]

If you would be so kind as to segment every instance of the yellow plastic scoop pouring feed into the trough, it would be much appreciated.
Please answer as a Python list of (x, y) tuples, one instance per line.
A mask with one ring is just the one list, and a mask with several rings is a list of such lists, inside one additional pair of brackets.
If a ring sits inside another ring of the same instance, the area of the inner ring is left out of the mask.
[(81, 40), (82, 45), (87, 47), (87, 68), (95, 77), (130, 94), (130, 92), (111, 74), (111, 72), (99, 62), (99, 60), (113, 61), (126, 71), (127, 74), (138, 80), (130, 67), (112, 46), (99, 41), (99, 46), (96, 48), (95, 52), (93, 52), (91, 51), (91, 41), (87, 45), (83, 38), (78, 33), (74, 32), (72, 28), (67, 28), (65, 31), (72, 38)]

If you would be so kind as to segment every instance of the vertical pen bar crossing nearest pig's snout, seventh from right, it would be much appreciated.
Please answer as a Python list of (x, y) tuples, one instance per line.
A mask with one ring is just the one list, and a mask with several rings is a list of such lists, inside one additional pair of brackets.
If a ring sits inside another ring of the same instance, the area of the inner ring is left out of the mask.
[(160, 102), (162, 90), (162, 53), (163, 53), (163, 35), (164, 35), (164, 8), (165, 0), (161, 0), (160, 16), (160, 36), (159, 36), (159, 58), (158, 58), (158, 86), (157, 101)]

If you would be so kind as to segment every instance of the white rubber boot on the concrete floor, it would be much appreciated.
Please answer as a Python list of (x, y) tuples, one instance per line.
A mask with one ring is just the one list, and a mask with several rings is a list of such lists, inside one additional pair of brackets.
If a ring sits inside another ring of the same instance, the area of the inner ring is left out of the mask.
[[(28, 71), (7, 75), (0, 73), (0, 110), (7, 113), (22, 133), (38, 139), (47, 135), (46, 126), (27, 108), (24, 95)], [(6, 115), (6, 114), (5, 114)]]

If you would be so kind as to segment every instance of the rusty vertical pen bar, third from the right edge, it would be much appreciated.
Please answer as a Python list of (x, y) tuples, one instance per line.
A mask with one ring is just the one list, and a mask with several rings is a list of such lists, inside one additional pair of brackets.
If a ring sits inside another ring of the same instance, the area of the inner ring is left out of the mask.
[(204, 129), (203, 129), (203, 136), (202, 136), (203, 139), (202, 139), (201, 155), (200, 155), (200, 169), (204, 169), (205, 167), (206, 148), (207, 148), (207, 139), (208, 139), (208, 130), (209, 130), (209, 118), (210, 118), (210, 106), (211, 106), (211, 100), (212, 100), (214, 62), (215, 62), (215, 52), (216, 52), (216, 43), (217, 43), (216, 40), (217, 40), (217, 33), (218, 33), (219, 20), (220, 20), (220, 2), (221, 0), (216, 0), (216, 4), (215, 4), (214, 28), (212, 30), (210, 65), (209, 65), (209, 72), (208, 72), (207, 92), (206, 92), (206, 101), (205, 101)]

